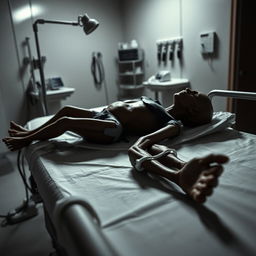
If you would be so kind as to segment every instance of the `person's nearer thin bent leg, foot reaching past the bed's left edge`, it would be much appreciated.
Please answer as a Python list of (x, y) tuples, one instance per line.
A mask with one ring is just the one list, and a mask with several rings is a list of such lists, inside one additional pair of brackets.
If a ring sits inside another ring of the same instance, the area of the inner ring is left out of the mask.
[(10, 150), (17, 150), (27, 146), (35, 140), (47, 140), (60, 136), (66, 131), (75, 132), (96, 143), (110, 143), (112, 137), (104, 134), (106, 128), (114, 128), (114, 121), (95, 120), (91, 118), (62, 117), (55, 122), (44, 125), (41, 129), (23, 136), (3, 139)]

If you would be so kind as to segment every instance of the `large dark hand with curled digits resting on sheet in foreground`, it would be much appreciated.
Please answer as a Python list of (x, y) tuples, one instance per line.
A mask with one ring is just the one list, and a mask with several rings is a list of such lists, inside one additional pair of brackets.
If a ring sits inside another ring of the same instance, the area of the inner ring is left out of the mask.
[(223, 171), (221, 164), (226, 163), (224, 155), (208, 155), (194, 158), (179, 171), (179, 186), (196, 202), (204, 203), (218, 185)]

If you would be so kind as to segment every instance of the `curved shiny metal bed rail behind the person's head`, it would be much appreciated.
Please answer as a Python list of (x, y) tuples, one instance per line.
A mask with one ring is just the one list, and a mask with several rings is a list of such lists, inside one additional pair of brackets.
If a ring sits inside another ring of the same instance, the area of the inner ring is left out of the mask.
[(208, 93), (208, 97), (212, 100), (213, 97), (230, 97), (235, 99), (244, 100), (256, 100), (255, 92), (245, 92), (245, 91), (231, 91), (231, 90), (212, 90)]

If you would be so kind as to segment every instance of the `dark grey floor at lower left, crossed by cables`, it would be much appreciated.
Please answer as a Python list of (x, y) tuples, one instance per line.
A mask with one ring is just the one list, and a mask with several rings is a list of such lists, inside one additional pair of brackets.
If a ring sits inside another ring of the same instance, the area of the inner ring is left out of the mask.
[[(7, 214), (25, 198), (25, 190), (16, 166), (16, 153), (0, 155), (0, 214)], [(39, 214), (19, 224), (0, 227), (1, 256), (47, 256), (54, 249), (44, 226), (42, 205)], [(0, 221), (2, 222), (2, 218)]]

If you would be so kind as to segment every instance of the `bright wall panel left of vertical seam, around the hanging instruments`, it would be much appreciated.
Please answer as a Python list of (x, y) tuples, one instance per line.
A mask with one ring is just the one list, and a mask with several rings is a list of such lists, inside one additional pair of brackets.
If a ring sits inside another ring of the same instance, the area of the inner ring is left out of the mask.
[[(146, 78), (161, 69), (157, 65), (158, 39), (180, 36), (179, 0), (125, 0), (123, 5), (125, 40), (136, 39), (145, 51)], [(180, 66), (172, 67), (172, 75), (178, 77)]]

